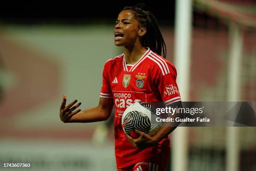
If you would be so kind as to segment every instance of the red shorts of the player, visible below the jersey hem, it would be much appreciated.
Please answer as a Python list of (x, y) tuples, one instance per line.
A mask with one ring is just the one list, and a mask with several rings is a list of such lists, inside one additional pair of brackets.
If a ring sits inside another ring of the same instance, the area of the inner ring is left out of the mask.
[(135, 165), (117, 169), (117, 171), (165, 171), (166, 166), (159, 166), (152, 162), (139, 162)]

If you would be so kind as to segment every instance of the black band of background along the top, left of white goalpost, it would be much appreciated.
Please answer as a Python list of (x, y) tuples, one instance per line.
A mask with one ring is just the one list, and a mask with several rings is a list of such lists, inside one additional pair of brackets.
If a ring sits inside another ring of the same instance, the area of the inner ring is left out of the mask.
[[(4, 5), (0, 10), (1, 23), (68, 23), (82, 24), (88, 22), (113, 22), (118, 13), (125, 7), (139, 3), (131, 1), (100, 2), (44, 2), (13, 3)], [(149, 10), (159, 23), (173, 25), (175, 1), (144, 2), (145, 10)], [(168, 22), (166, 22), (168, 20)]]

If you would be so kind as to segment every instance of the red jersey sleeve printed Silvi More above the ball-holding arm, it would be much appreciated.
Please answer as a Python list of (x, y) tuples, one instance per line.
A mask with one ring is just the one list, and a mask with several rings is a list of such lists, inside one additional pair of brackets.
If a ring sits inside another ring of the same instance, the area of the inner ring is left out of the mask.
[(158, 76), (155, 76), (157, 78), (156, 85), (164, 104), (167, 106), (181, 101), (179, 88), (176, 83), (177, 71), (175, 66), (171, 62), (165, 61), (163, 69), (158, 68), (155, 74), (158, 74)]

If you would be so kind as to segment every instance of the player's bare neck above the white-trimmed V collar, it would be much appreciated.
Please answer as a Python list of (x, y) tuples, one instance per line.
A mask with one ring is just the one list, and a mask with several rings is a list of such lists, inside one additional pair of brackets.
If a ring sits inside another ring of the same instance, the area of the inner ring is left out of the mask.
[(125, 61), (127, 64), (135, 64), (141, 56), (147, 51), (142, 46), (124, 47)]

